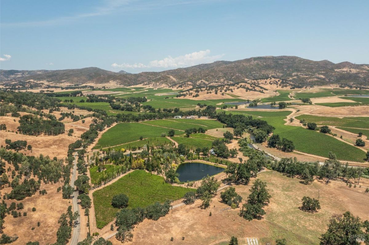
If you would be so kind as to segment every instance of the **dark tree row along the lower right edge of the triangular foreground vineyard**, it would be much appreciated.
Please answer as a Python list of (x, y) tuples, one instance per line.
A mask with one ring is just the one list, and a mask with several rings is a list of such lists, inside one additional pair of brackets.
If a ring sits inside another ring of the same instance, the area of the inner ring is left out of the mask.
[(115, 220), (115, 226), (118, 227), (115, 238), (121, 242), (132, 241), (134, 226), (141, 223), (145, 218), (158, 220), (160, 217), (165, 216), (169, 213), (171, 202), (172, 200), (166, 200), (163, 204), (156, 202), (146, 208), (121, 209), (117, 213), (117, 219)]

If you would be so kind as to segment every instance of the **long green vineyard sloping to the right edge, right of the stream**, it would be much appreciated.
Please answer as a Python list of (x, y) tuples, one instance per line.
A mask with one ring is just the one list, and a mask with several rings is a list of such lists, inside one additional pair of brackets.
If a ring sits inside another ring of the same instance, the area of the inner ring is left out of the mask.
[(295, 150), (323, 157), (328, 157), (328, 153), (331, 151), (336, 154), (339, 160), (364, 161), (365, 152), (363, 150), (320, 132), (284, 125), (286, 123), (284, 118), (264, 117), (262, 120), (275, 127), (273, 134), (279, 134), (281, 138), (292, 140)]

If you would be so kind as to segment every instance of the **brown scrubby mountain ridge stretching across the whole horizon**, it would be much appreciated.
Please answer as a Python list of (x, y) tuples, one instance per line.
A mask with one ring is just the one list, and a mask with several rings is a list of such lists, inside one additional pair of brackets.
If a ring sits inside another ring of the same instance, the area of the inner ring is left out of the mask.
[(206, 86), (240, 83), (248, 80), (279, 78), (296, 86), (326, 84), (369, 85), (369, 65), (348, 61), (333, 63), (328, 60), (313, 61), (296, 56), (259, 56), (236, 61), (215, 61), (186, 68), (161, 72), (113, 72), (97, 67), (67, 70), (17, 71), (1, 70), (2, 83), (9, 81), (38, 81), (58, 84), (107, 84), (168, 86)]

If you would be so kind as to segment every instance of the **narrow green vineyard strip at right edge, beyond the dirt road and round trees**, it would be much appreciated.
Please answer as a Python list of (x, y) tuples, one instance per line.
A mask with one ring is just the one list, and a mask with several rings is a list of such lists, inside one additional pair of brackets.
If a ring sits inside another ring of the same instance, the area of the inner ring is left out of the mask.
[(324, 117), (324, 116), (314, 116), (314, 115), (300, 115), (296, 119), (305, 119), (308, 123), (316, 123), (317, 125), (328, 125), (328, 126), (341, 126), (341, 127), (351, 127), (351, 128), (368, 128), (369, 121), (355, 120), (349, 117), (339, 118), (339, 117)]

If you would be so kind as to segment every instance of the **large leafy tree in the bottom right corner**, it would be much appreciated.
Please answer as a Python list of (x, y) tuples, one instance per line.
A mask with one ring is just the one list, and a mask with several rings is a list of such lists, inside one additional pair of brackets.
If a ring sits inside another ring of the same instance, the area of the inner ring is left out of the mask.
[[(368, 238), (368, 234), (365, 234), (362, 230), (363, 225), (365, 225), (365, 222), (362, 223), (359, 217), (353, 216), (350, 212), (345, 212), (343, 216), (332, 216), (330, 223), (328, 224), (327, 232), (325, 232), (320, 238), (320, 244), (359, 245), (360, 242), (356, 241), (356, 238)], [(368, 228), (366, 232), (368, 232)]]

